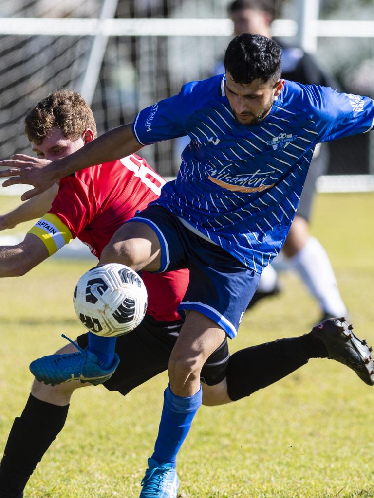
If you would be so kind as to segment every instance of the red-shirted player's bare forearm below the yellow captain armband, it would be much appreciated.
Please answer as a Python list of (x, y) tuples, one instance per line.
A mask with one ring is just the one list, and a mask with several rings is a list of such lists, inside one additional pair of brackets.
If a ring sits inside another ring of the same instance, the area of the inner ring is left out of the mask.
[(16, 246), (0, 246), (0, 277), (24, 275), (49, 256), (43, 242), (27, 234)]

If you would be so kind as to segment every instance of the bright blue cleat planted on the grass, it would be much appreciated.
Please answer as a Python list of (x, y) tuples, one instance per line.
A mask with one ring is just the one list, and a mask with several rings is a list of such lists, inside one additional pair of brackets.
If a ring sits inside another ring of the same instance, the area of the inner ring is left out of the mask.
[(142, 486), (139, 498), (177, 498), (177, 471), (172, 464), (159, 464), (157, 460), (149, 458)]

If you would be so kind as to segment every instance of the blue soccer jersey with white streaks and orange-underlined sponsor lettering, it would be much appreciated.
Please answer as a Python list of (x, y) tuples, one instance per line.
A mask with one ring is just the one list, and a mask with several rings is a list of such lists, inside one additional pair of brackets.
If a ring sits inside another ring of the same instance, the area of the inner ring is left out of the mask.
[(143, 145), (189, 135), (177, 179), (155, 202), (261, 272), (288, 234), (315, 145), (373, 125), (368, 97), (286, 81), (270, 114), (246, 126), (220, 75), (144, 109), (133, 132)]

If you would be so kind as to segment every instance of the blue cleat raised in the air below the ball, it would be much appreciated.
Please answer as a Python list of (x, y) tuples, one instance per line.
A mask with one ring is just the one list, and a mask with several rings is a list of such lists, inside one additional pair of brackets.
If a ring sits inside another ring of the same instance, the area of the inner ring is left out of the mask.
[(88, 348), (81, 348), (65, 335), (62, 335), (62, 337), (70, 341), (78, 352), (64, 355), (48, 355), (34, 360), (30, 363), (29, 368), (36, 380), (52, 385), (62, 384), (70, 380), (80, 380), (82, 383), (90, 382), (97, 385), (110, 379), (120, 363), (116, 353), (114, 354), (113, 365), (104, 370), (98, 365), (97, 356), (88, 351)]

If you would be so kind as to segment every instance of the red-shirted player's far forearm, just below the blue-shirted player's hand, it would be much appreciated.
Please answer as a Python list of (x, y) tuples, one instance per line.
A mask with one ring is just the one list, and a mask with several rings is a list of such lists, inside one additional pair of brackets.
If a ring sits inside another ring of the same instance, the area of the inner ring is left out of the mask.
[(58, 185), (54, 183), (42, 194), (36, 195), (32, 199), (4, 215), (0, 215), (0, 230), (13, 228), (25, 221), (41, 218), (44, 213), (50, 210), (51, 204), (58, 192)]

